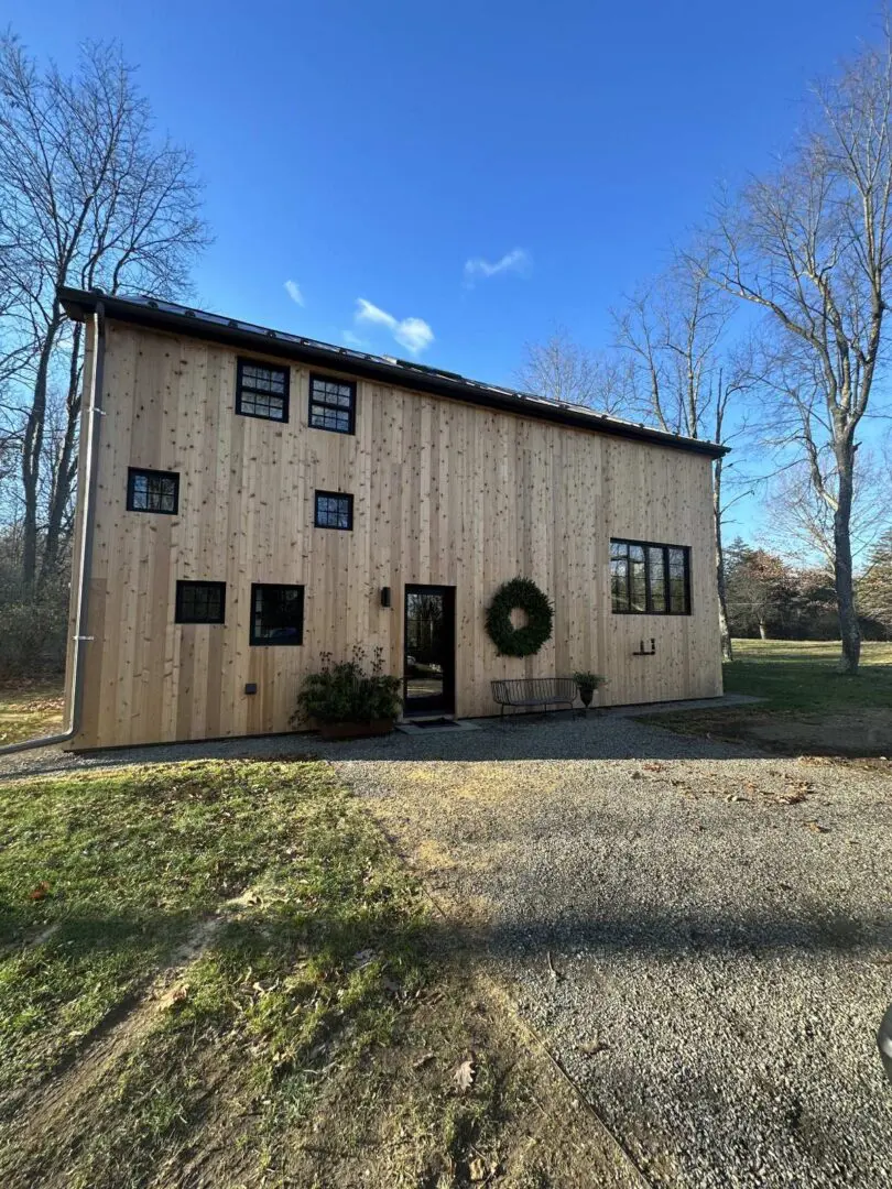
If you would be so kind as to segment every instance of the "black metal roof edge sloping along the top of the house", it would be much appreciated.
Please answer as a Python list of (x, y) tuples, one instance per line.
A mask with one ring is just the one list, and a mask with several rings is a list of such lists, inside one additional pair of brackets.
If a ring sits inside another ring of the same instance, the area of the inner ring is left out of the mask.
[(635, 441), (692, 451), (710, 458), (721, 458), (728, 453), (727, 446), (717, 446), (715, 442), (697, 438), (683, 438), (680, 434), (667, 434), (661, 429), (652, 429), (649, 426), (623, 421), (620, 417), (609, 417), (607, 414), (595, 413), (578, 404), (549, 401), (532, 392), (520, 392), (497, 384), (467, 379), (457, 372), (440, 371), (391, 356), (373, 356), (364, 351), (353, 351), (351, 347), (338, 347), (316, 339), (304, 339), (285, 331), (271, 331), (252, 322), (241, 322), (222, 314), (208, 314), (206, 310), (153, 297), (111, 297), (100, 290), (87, 292), (82, 289), (67, 288), (58, 290), (58, 297), (65, 313), (76, 321), (83, 321), (96, 309), (98, 303), (102, 302), (106, 316), (118, 322), (133, 322), (156, 331), (170, 331), (194, 339), (221, 342), (241, 351), (255, 351), (316, 367), (329, 367), (348, 376), (409, 388), (419, 392), (431, 392), (434, 396), (446, 396), (453, 401), (465, 401), (523, 417), (554, 421), (576, 429), (589, 429), (615, 438), (632, 438)]

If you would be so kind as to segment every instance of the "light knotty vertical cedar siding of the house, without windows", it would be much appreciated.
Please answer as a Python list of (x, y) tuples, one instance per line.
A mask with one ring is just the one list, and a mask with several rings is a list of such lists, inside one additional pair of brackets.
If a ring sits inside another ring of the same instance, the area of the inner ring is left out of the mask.
[[(106, 338), (75, 747), (287, 731), (320, 652), (381, 644), (402, 673), (407, 583), (456, 587), (460, 716), (495, 711), (494, 678), (577, 668), (607, 674), (604, 704), (721, 693), (708, 457), (366, 380), (354, 435), (310, 429), (302, 365), (287, 424), (244, 417), (233, 350), (113, 321)], [(180, 473), (176, 516), (126, 511), (130, 466)], [(314, 527), (316, 489), (353, 495), (352, 531)], [(613, 615), (611, 536), (690, 546), (692, 615)], [(522, 660), (484, 627), (516, 574), (555, 605)], [(225, 581), (225, 625), (174, 623), (177, 579)], [(249, 644), (252, 583), (306, 587), (302, 647)], [(634, 656), (652, 636), (657, 654)]]

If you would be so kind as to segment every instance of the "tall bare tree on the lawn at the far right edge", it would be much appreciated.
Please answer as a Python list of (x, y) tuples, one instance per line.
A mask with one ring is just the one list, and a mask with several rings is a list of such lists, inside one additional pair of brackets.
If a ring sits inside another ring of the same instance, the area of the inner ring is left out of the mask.
[[(709, 276), (762, 309), (798, 383), (777, 390), (785, 448), (833, 517), (840, 668), (856, 673), (852, 511), (858, 433), (881, 365), (892, 213), (892, 38), (814, 92), (786, 158), (715, 214)], [(833, 459), (833, 487), (825, 457)]]

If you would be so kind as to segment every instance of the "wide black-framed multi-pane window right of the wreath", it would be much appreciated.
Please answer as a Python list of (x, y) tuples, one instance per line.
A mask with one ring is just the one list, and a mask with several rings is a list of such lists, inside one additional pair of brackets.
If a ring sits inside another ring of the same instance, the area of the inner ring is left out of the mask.
[(610, 594), (617, 615), (690, 615), (691, 551), (611, 541)]

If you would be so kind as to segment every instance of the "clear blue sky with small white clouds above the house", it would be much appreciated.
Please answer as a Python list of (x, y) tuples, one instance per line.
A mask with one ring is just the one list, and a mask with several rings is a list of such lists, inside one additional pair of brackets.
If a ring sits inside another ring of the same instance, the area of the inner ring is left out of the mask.
[(609, 345), (611, 304), (878, 24), (875, 0), (5, 8), (62, 65), (119, 38), (195, 150), (197, 303), (496, 383), (554, 323)]

